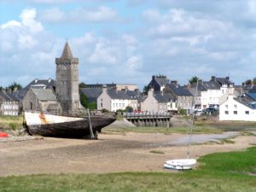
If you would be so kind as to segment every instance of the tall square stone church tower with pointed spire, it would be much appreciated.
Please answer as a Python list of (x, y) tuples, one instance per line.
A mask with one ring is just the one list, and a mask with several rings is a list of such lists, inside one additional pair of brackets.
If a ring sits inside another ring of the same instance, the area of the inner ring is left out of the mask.
[(66, 42), (61, 58), (55, 58), (55, 92), (63, 113), (73, 114), (80, 108), (79, 59), (74, 58)]

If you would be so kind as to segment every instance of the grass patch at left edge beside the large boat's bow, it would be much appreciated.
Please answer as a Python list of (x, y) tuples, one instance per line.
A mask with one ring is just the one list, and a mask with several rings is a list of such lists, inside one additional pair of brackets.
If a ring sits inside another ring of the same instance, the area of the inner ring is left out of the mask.
[(0, 116), (0, 128), (3, 130), (17, 130), (22, 127), (23, 116)]

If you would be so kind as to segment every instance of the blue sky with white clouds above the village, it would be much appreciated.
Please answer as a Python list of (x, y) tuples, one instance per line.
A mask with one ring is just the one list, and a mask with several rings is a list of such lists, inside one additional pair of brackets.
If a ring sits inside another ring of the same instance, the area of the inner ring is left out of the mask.
[(254, 0), (0, 0), (0, 86), (55, 79), (68, 41), (85, 84), (256, 77)]

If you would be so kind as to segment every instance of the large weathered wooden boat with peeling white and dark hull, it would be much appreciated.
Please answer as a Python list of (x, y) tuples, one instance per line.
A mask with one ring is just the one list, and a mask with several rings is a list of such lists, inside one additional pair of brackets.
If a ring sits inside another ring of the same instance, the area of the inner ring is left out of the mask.
[(78, 118), (46, 113), (25, 112), (26, 128), (31, 135), (44, 137), (89, 137), (90, 124), (95, 137), (97, 132), (115, 121), (114, 117), (90, 116)]

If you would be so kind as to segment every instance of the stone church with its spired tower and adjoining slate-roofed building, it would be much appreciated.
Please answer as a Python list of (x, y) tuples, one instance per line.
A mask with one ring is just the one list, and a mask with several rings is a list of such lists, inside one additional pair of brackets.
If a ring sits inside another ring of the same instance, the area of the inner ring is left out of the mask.
[[(66, 42), (60, 58), (55, 58), (54, 86), (32, 84), (23, 98), (24, 110), (76, 114), (82, 108), (79, 98), (79, 59)], [(38, 81), (39, 82), (39, 81)]]

